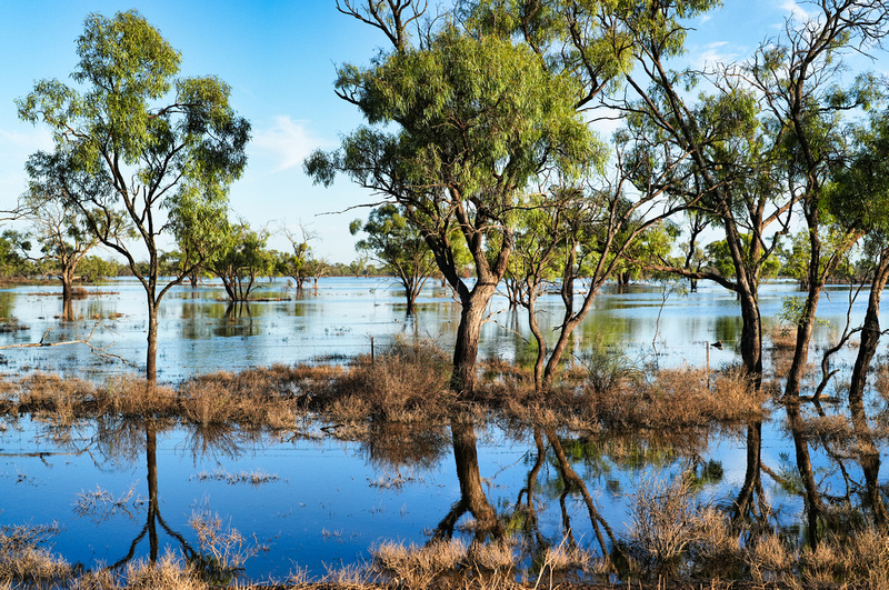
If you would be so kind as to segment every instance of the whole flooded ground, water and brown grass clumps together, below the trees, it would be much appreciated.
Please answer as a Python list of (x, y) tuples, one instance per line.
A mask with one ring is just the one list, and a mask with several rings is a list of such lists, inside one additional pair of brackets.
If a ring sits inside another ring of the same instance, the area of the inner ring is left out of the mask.
[[(0, 582), (132, 583), (133, 564), (164, 559), (217, 584), (885, 581), (863, 442), (841, 399), (851, 354), (833, 360), (826, 402), (805, 404), (805, 432), (791, 431), (773, 389), (753, 396), (732, 371), (740, 320), (718, 288), (603, 294), (543, 401), (516, 370), (533, 353), (526, 323), (496, 302), (485, 394), (460, 408), (446, 387), (459, 308), (444, 289), (428, 288), (410, 319), (379, 279), (296, 298), (272, 283), (291, 299), (249, 309), (182, 287), (161, 308), (166, 384), (151, 399), (121, 361), (143, 360), (139, 289), (102, 286), (71, 322), (57, 319), (58, 298), (0, 292), (16, 328), (0, 344), (92, 347), (1, 351)], [(763, 289), (769, 383), (791, 294)], [(846, 323), (846, 291), (819, 310), (816, 361)], [(869, 412), (885, 457), (880, 387)]]

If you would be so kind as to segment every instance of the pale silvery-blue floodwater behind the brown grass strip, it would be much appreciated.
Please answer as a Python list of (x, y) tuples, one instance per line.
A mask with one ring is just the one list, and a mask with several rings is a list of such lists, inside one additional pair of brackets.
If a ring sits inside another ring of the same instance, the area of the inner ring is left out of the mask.
[[(677, 289), (679, 287), (679, 289)], [(618, 348), (633, 361), (658, 358), (660, 366), (683, 362), (711, 367), (738, 361), (735, 344), (740, 338), (739, 308), (732, 293), (701, 283), (698, 292), (682, 293), (682, 286), (632, 286), (627, 292), (606, 289), (577, 331), (573, 352), (583, 357), (596, 342)], [(29, 342), (86, 340), (134, 363), (144, 366), (144, 293), (133, 279), (120, 279), (90, 288), (91, 294), (74, 301), (72, 322), (60, 322), (61, 299), (46, 293), (56, 287), (22, 286), (0, 290), (0, 322), (27, 330), (0, 333), (0, 346)], [(795, 284), (766, 284), (760, 306), (766, 330), (777, 324), (781, 301), (795, 297)], [(450, 289), (432, 282), (418, 301), (416, 319), (406, 319), (401, 290), (388, 279), (330, 278), (318, 290), (296, 296), (287, 281), (268, 283), (257, 297), (282, 298), (229, 310), (220, 286), (197, 289), (178, 287), (160, 308), (158, 373), (161, 381), (177, 382), (196, 372), (240, 370), (276, 362), (343, 360), (384, 347), (396, 338), (420, 336), (442, 347), (453, 341), (459, 306)], [(557, 297), (541, 300), (545, 329), (558, 326)], [(863, 317), (866, 294), (859, 298), (852, 320)], [(549, 306), (549, 307), (548, 307)], [(826, 342), (846, 323), (848, 290), (829, 289), (819, 303), (815, 341)], [(527, 321), (509, 311), (503, 299), (495, 299), (482, 332), (483, 357), (507, 360), (531, 356)], [(48, 333), (47, 330), (49, 330)], [(46, 336), (43, 336), (46, 333)], [(722, 350), (707, 343), (720, 341)], [(101, 379), (133, 371), (132, 366), (102, 358), (88, 347), (41, 347), (0, 350), (0, 368), (7, 372), (43, 370)]]

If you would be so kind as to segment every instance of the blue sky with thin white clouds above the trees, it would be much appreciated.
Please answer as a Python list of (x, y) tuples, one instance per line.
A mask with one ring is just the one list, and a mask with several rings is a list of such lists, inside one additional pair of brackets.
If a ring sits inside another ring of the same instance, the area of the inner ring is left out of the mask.
[[(433, 3), (430, 1), (430, 3)], [(332, 149), (361, 123), (357, 110), (333, 94), (336, 66), (364, 64), (381, 33), (340, 14), (333, 0), (3, 0), (0, 51), (0, 209), (13, 207), (24, 189), (30, 153), (51, 148), (49, 133), (18, 120), (13, 100), (36, 80), (68, 76), (77, 64), (74, 41), (90, 12), (111, 17), (136, 8), (182, 54), (183, 74), (216, 74), (232, 87), (232, 102), (250, 120), (249, 164), (232, 188), (232, 216), (278, 230), (303, 223), (318, 236), (320, 257), (354, 258), (349, 221), (367, 210), (342, 211), (372, 200), (344, 179), (330, 189), (313, 187), (302, 159), (316, 148)], [(806, 4), (786, 0), (726, 0), (692, 26), (688, 59), (741, 60), (777, 34), (783, 19)], [(873, 66), (881, 70), (880, 63)], [(885, 69), (883, 69), (885, 71)], [(274, 237), (271, 246), (286, 249)]]

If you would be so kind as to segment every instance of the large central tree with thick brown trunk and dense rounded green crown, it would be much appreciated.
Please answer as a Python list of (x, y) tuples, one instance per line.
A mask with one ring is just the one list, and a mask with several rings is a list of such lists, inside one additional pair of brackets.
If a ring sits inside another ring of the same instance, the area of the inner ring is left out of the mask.
[[(400, 11), (368, 0), (346, 9), (392, 40), (368, 68), (339, 69), (337, 93), (367, 127), (339, 150), (306, 161), (316, 181), (343, 172), (402, 207), (432, 251), (461, 303), (451, 388), (471, 397), (481, 324), (507, 272), (515, 243), (515, 209), (548, 170), (572, 178), (601, 160), (601, 146), (575, 110), (581, 88), (545, 67), (523, 43), (470, 34), (447, 19), (412, 44)], [(458, 228), (455, 236), (453, 228)], [(455, 240), (472, 257), (475, 281), (457, 264)]]

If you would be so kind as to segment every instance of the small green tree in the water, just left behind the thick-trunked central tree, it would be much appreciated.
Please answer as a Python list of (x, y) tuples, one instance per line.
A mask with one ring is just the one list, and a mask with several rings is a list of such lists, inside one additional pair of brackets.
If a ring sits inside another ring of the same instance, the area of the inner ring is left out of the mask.
[(352, 236), (359, 231), (367, 233), (367, 238), (356, 243), (356, 249), (381, 262), (383, 272), (398, 278), (404, 288), (407, 314), (412, 316), (417, 297), (437, 268), (420, 231), (392, 203), (373, 209), (367, 222), (356, 219), (349, 224), (349, 231)]

